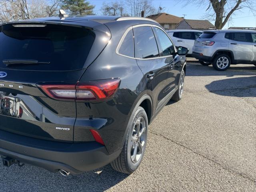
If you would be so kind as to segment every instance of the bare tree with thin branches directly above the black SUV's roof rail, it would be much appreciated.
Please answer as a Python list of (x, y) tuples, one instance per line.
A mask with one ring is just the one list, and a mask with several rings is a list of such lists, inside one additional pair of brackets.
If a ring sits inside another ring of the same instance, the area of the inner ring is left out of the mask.
[(145, 16), (157, 12), (157, 10), (152, 6), (152, 0), (127, 0), (127, 6), (130, 16), (133, 17), (140, 17), (142, 11), (144, 11)]

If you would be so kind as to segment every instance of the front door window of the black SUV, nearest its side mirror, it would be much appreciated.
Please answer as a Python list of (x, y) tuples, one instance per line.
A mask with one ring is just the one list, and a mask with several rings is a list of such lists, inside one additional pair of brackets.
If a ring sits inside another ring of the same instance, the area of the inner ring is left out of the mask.
[(174, 46), (168, 36), (159, 28), (154, 27), (158, 40), (160, 42), (160, 47), (162, 49), (162, 56), (170, 56), (174, 54)]

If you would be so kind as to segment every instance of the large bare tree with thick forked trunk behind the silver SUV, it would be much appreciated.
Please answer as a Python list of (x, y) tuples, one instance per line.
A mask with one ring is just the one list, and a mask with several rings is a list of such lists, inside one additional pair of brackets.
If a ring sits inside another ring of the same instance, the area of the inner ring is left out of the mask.
[(222, 29), (232, 15), (244, 8), (256, 14), (256, 0), (187, 0), (188, 4), (206, 7), (206, 18), (215, 21), (216, 29)]

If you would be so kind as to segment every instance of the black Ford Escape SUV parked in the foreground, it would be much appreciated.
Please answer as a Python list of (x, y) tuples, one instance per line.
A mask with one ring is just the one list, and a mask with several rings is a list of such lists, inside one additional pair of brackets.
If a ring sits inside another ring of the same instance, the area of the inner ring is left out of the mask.
[(0, 155), (64, 175), (132, 173), (148, 124), (182, 97), (188, 50), (155, 21), (59, 17), (0, 25)]

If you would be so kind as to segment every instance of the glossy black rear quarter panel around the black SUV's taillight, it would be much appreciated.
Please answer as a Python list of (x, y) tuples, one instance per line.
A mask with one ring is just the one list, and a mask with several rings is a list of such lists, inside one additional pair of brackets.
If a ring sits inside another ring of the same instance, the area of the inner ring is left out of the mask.
[[(112, 37), (102, 53), (87, 68), (80, 82), (120, 78), (120, 87), (114, 98), (102, 103), (76, 103), (77, 118), (74, 126), (74, 141), (80, 142), (88, 129), (98, 130), (112, 153), (123, 146), (123, 138), (130, 115), (138, 100), (146, 94), (143, 73), (134, 58), (116, 54), (116, 47), (124, 32), (130, 27), (108, 24)], [(99, 123), (100, 122), (100, 123)]]

